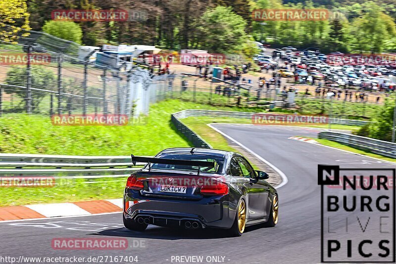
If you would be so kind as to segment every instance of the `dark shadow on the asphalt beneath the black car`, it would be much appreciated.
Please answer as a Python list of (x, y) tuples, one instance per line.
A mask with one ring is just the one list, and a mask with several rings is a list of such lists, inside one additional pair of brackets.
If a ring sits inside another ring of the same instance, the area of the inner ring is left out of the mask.
[[(245, 233), (252, 232), (260, 229), (260, 225), (247, 227)], [(92, 233), (91, 235), (103, 236), (118, 236), (118, 237), (131, 237), (131, 238), (151, 238), (151, 239), (164, 239), (164, 240), (181, 240), (181, 239), (219, 239), (230, 238), (228, 230), (224, 229), (198, 229), (187, 230), (182, 228), (168, 228), (160, 226), (148, 226), (144, 232), (131, 231), (126, 228), (115, 228)], [(243, 235), (242, 235), (243, 236)]]

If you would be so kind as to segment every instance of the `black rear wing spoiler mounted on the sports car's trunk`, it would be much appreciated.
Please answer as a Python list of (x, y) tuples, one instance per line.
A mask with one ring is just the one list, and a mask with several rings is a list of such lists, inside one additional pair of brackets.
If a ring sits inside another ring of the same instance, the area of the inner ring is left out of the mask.
[(131, 154), (132, 164), (136, 166), (136, 162), (148, 163), (148, 171), (151, 171), (151, 163), (157, 164), (169, 164), (169, 165), (186, 165), (186, 166), (198, 166), (198, 175), (201, 167), (215, 168), (217, 171), (218, 164), (216, 161), (201, 161), (201, 160), (186, 160), (186, 159), (171, 159), (171, 158), (148, 158), (133, 156)]

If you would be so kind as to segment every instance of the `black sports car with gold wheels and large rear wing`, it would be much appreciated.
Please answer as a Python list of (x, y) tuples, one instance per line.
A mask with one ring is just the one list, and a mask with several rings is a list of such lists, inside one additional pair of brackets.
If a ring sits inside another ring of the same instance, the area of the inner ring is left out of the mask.
[(124, 194), (126, 228), (148, 224), (187, 229), (216, 227), (240, 236), (245, 226), (278, 222), (278, 194), (240, 154), (173, 148), (154, 158), (135, 157), (143, 169), (128, 177)]

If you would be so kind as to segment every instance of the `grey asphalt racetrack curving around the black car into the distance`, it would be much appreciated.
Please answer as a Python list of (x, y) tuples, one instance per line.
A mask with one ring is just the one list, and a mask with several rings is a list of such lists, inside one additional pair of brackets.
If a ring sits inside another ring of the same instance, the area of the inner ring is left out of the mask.
[[(20, 256), (137, 256), (140, 264), (197, 263), (182, 258), (177, 261), (175, 256), (203, 256), (202, 263), (320, 263), (317, 165), (395, 167), (395, 163), (288, 139), (292, 136), (315, 138), (321, 131), (319, 129), (231, 124), (215, 124), (214, 127), (268, 160), (287, 176), (288, 183), (278, 189), (280, 218), (276, 227), (249, 227), (242, 237), (235, 238), (216, 230), (186, 231), (151, 225), (145, 232), (133, 232), (123, 227), (121, 213), (3, 222), (0, 223), (0, 256), (16, 259)], [(344, 234), (345, 237), (353, 235)], [(68, 251), (51, 247), (53, 238), (98, 237), (126, 238), (129, 248)]]

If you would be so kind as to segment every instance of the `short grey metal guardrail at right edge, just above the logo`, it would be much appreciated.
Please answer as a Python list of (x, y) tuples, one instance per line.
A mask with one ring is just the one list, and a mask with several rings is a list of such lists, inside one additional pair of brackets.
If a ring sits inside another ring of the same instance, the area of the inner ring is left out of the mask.
[(338, 132), (320, 132), (320, 139), (328, 139), (349, 147), (396, 158), (396, 143)]

